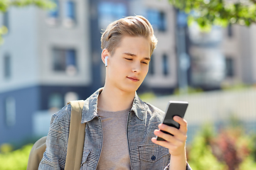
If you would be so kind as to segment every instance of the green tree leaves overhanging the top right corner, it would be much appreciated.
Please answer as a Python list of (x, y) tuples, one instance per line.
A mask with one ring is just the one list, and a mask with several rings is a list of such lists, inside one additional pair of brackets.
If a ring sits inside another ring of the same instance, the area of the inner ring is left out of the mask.
[(169, 3), (188, 13), (188, 25), (196, 21), (203, 29), (212, 25), (256, 23), (256, 0), (169, 0)]

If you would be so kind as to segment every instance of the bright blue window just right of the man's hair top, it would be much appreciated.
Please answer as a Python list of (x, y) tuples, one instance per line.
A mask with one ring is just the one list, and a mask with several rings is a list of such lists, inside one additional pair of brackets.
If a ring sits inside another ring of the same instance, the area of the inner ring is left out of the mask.
[(149, 9), (146, 16), (155, 30), (166, 30), (166, 16), (164, 12)]

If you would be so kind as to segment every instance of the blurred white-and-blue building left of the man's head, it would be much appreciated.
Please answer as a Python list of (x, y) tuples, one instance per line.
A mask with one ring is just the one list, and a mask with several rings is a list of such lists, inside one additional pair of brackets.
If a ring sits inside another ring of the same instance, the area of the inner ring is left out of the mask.
[(56, 4), (52, 11), (29, 6), (1, 14), (9, 33), (0, 46), (0, 143), (37, 135), (36, 112), (90, 95), (89, 2)]

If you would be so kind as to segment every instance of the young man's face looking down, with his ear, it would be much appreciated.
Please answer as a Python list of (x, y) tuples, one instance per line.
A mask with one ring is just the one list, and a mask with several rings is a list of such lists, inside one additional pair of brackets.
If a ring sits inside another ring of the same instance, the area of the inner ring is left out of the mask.
[[(110, 56), (107, 50), (103, 50)], [(109, 57), (105, 86), (134, 92), (144, 81), (149, 70), (150, 43), (146, 38), (124, 36), (112, 56)]]

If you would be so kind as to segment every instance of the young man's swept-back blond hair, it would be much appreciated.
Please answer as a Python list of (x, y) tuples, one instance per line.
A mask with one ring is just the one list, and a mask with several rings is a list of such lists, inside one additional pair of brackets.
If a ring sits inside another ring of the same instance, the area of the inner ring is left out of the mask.
[(149, 21), (144, 16), (127, 16), (107, 26), (101, 37), (102, 50), (107, 49), (110, 55), (113, 55), (115, 48), (118, 47), (119, 42), (125, 35), (142, 36), (148, 39), (150, 42), (150, 55), (156, 48), (157, 39)]

